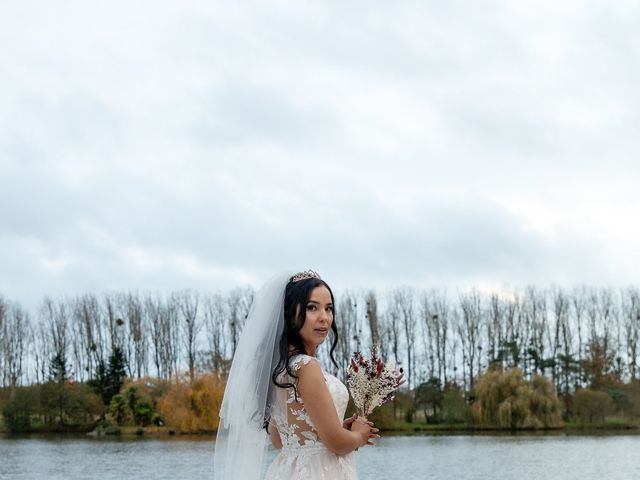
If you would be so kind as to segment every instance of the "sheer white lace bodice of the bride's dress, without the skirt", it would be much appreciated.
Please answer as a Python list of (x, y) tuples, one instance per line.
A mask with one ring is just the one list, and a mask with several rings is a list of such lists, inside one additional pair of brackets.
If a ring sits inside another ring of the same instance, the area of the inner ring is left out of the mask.
[[(315, 357), (309, 355), (295, 355), (291, 358), (289, 365), (297, 372), (303, 365), (309, 362), (317, 362)], [(340, 421), (344, 418), (349, 402), (349, 391), (347, 387), (333, 375), (322, 370), (336, 413)], [(288, 374), (288, 380), (291, 379)], [(275, 422), (280, 434), (283, 448), (310, 447), (320, 443), (318, 432), (307, 414), (304, 407), (304, 399), (298, 392), (297, 399), (292, 388), (278, 389), (278, 408), (272, 412), (271, 421)]]

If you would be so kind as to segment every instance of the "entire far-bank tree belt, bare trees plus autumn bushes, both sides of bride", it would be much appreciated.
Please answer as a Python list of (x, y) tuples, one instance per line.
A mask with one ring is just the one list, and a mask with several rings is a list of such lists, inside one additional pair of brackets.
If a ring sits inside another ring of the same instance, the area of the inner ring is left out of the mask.
[[(45, 297), (35, 315), (0, 296), (5, 427), (215, 429), (253, 295), (247, 287)], [(326, 368), (344, 379), (353, 352), (375, 346), (405, 371), (407, 385), (374, 415), (383, 428), (416, 420), (555, 428), (640, 417), (635, 287), (400, 287), (346, 291), (336, 302), (338, 367), (325, 342)]]

